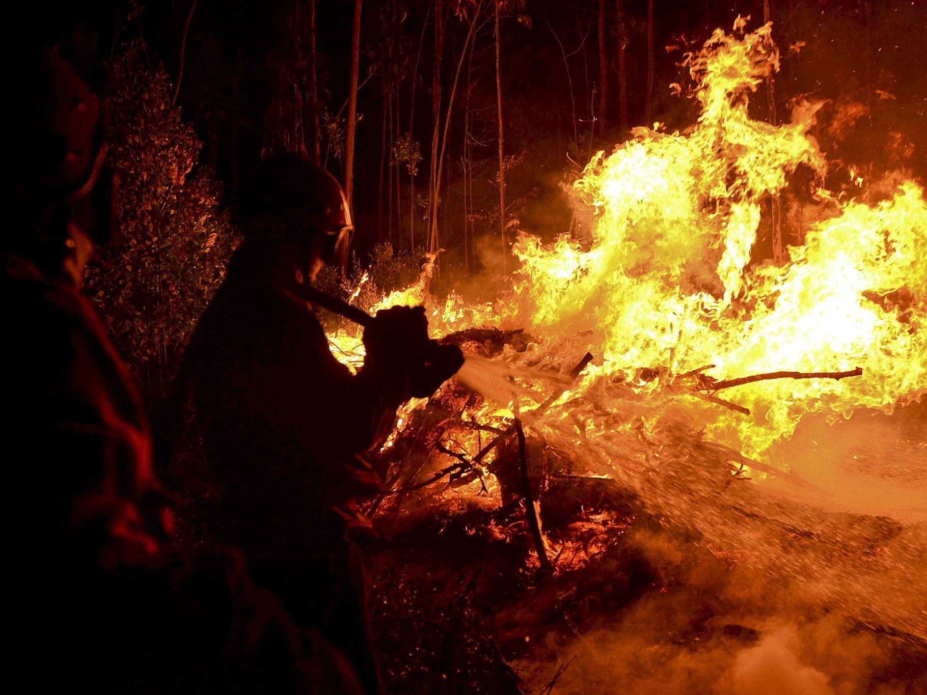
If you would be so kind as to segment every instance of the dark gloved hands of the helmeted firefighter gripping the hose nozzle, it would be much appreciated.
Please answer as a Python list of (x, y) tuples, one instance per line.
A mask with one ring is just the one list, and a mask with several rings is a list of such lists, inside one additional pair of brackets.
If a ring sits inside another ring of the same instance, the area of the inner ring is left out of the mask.
[(392, 307), (376, 312), (363, 332), (371, 369), (401, 376), (406, 398), (431, 396), (464, 364), (459, 347), (442, 346), (428, 339), (425, 307)]

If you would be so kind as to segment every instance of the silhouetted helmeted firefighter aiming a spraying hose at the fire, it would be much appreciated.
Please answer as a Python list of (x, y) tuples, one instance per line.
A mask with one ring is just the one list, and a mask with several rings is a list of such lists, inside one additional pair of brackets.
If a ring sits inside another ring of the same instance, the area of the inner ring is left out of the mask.
[[(332, 355), (321, 323), (287, 291), (347, 253), (341, 186), (298, 158), (263, 162), (246, 189), (244, 244), (184, 357), (213, 474), (225, 486), (220, 534), (248, 552), (255, 579), (298, 622), (344, 651), (379, 691), (355, 540), (359, 499), (378, 488), (364, 453), (396, 410), (463, 363), (427, 336), (425, 310), (377, 313), (357, 375)], [(424, 356), (427, 356), (425, 359)]]

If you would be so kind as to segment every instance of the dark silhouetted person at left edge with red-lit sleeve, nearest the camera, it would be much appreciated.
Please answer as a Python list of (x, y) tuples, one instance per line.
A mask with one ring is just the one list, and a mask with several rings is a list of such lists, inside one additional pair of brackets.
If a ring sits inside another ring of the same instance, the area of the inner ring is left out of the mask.
[(20, 57), (2, 283), (5, 507), (18, 510), (6, 634), (23, 679), (8, 680), (31, 692), (358, 692), (337, 652), (304, 649), (240, 553), (171, 544), (145, 411), (80, 292), (108, 231), (101, 105), (57, 54)]

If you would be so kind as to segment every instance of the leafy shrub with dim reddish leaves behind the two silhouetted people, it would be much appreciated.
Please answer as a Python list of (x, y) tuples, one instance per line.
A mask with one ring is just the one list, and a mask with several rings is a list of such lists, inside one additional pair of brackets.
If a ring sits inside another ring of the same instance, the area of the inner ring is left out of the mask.
[(160, 398), (237, 243), (202, 143), (171, 105), (167, 72), (129, 44), (109, 67), (108, 142), (119, 177), (114, 243), (86, 284), (148, 398)]

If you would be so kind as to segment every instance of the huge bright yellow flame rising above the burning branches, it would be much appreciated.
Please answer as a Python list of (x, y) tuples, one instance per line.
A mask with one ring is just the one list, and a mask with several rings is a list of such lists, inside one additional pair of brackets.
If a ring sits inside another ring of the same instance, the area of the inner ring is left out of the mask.
[(764, 206), (787, 174), (826, 168), (808, 134), (817, 106), (799, 104), (781, 126), (747, 112), (778, 59), (770, 25), (741, 38), (717, 30), (686, 59), (697, 123), (637, 129), (575, 184), (597, 213), (591, 239), (545, 246), (526, 236), (515, 246), (523, 319), (548, 338), (594, 332), (603, 367), (586, 388), (641, 367), (672, 376), (713, 364), (717, 379), (863, 368), (862, 378), (730, 391), (753, 416), (716, 409), (706, 424), (751, 454), (791, 434), (803, 413), (890, 410), (927, 392), (927, 204), (916, 183), (875, 205), (841, 205), (819, 187), (830, 211), (788, 248), (788, 262), (756, 252)]

